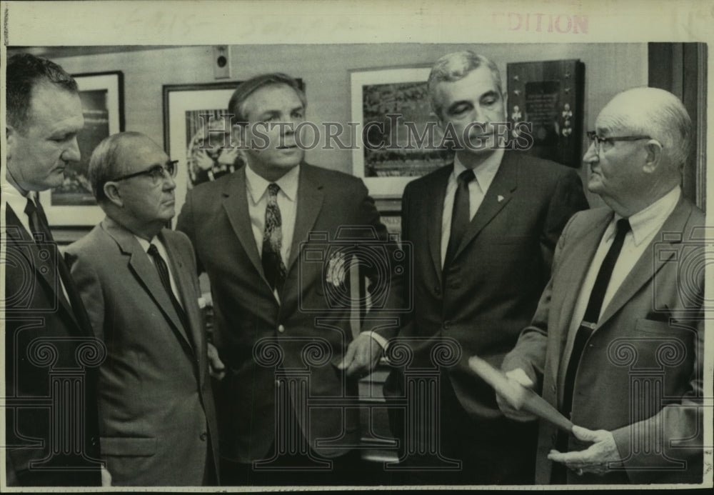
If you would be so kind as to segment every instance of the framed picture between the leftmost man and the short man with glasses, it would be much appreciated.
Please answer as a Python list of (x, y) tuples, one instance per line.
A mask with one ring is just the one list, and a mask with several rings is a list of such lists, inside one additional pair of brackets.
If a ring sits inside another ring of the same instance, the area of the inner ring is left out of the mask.
[(41, 191), (51, 226), (94, 226), (104, 219), (87, 177), (89, 157), (99, 142), (124, 131), (124, 74), (121, 71), (73, 74), (82, 101), (84, 128), (77, 135), (81, 159), (65, 169), (64, 183)]

